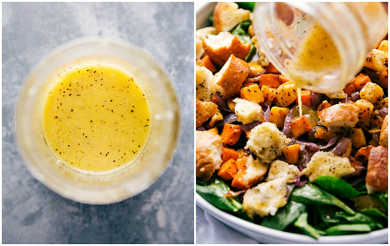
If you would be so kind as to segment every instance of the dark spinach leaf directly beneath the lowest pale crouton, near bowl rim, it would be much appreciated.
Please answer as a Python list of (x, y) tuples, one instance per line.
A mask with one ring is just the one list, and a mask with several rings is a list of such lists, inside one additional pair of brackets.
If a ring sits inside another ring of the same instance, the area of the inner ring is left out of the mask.
[(260, 225), (284, 230), (305, 211), (306, 206), (304, 204), (289, 201), (286, 206), (279, 208), (274, 216), (265, 216)]

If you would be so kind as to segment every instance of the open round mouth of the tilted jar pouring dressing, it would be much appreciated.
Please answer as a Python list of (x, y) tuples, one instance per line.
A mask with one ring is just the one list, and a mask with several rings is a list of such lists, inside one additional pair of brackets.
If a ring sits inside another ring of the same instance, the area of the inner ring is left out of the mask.
[[(355, 32), (355, 17), (344, 14), (342, 18), (348, 20), (348, 23), (340, 28), (339, 23), (343, 21), (329, 14), (343, 7), (342, 3), (257, 3), (253, 24), (255, 34), (259, 37), (258, 48), (280, 73), (297, 80), (297, 84), (300, 79), (304, 79), (306, 82), (301, 83), (303, 88), (321, 93), (342, 90), (353, 74), (361, 69), (351, 66), (351, 63), (359, 63), (365, 56), (362, 34)], [(300, 45), (308, 36), (307, 31), (317, 21), (328, 31), (340, 62), (317, 70), (312, 70), (314, 66), (309, 64), (304, 69), (305, 73), (296, 67), (289, 68), (298, 60)], [(308, 81), (313, 81), (313, 85)]]

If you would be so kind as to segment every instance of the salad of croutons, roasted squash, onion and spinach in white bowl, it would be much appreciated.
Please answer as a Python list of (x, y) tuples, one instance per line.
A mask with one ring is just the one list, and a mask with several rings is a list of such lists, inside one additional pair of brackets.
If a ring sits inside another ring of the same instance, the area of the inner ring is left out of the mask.
[(322, 94), (261, 52), (253, 8), (197, 12), (197, 204), (259, 241), (387, 242), (387, 36), (342, 91)]

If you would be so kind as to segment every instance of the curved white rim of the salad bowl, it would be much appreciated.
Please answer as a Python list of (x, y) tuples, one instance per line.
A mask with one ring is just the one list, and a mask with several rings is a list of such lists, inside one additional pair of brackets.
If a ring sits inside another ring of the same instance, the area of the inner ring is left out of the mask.
[[(209, 14), (204, 14), (205, 11), (212, 11), (216, 5), (216, 2), (201, 2), (196, 5), (196, 30), (202, 28), (202, 26), (209, 16)], [(199, 21), (199, 22), (198, 22)], [(292, 232), (286, 232), (281, 230), (276, 230), (273, 228), (268, 228), (264, 226), (260, 226), (249, 221), (240, 219), (235, 217), (232, 214), (229, 214), (223, 210), (220, 210), (206, 201), (202, 196), (200, 196), (195, 191), (195, 200), (196, 205), (202, 208), (204, 211), (210, 213), (217, 220), (221, 221), (223, 224), (232, 227), (227, 221), (232, 222), (234, 225), (246, 229), (248, 231), (252, 231), (254, 233), (264, 233), (267, 234), (270, 238), (287, 238), (289, 241), (294, 243), (322, 243), (322, 244), (334, 244), (341, 242), (348, 243), (362, 243), (366, 241), (366, 243), (373, 242), (372, 240), (368, 240), (370, 238), (374, 239), (384, 239), (380, 241), (381, 243), (388, 242), (389, 236), (389, 228), (383, 228), (375, 231), (371, 231), (369, 233), (364, 234), (352, 234), (352, 235), (340, 235), (340, 236), (321, 236), (318, 240), (303, 234), (297, 234)], [(241, 232), (241, 231), (240, 231)], [(242, 232), (241, 232), (242, 233)], [(250, 235), (247, 235), (251, 237)], [(253, 238), (253, 237), (251, 237)], [(255, 238), (253, 238), (255, 239)], [(256, 239), (255, 239), (256, 240)]]

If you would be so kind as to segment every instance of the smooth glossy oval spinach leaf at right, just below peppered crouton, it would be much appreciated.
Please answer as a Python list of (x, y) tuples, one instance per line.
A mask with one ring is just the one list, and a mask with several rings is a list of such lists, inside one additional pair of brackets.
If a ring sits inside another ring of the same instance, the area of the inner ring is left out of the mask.
[(339, 198), (351, 198), (361, 195), (361, 193), (356, 189), (353, 189), (347, 181), (340, 178), (320, 176), (314, 181), (314, 183)]

